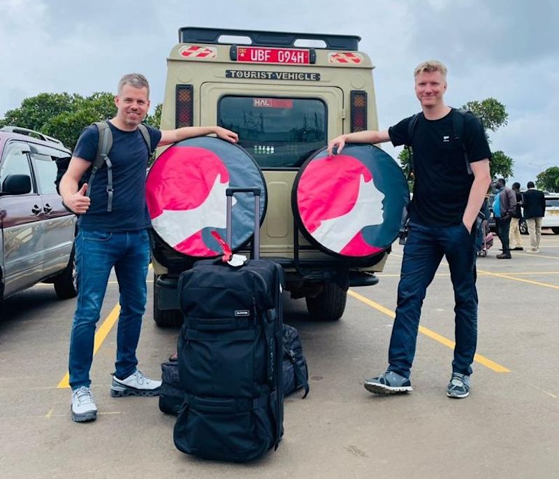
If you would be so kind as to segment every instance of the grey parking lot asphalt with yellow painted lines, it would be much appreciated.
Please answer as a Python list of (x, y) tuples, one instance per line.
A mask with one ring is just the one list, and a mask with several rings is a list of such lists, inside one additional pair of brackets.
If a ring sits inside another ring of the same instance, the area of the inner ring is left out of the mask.
[[(525, 248), (528, 237), (523, 236)], [(173, 445), (174, 417), (157, 398), (112, 398), (118, 287), (111, 281), (96, 336), (95, 422), (77, 424), (66, 387), (74, 300), (38, 285), (5, 304), (0, 323), (0, 477), (11, 478), (540, 478), (559, 476), (559, 236), (539, 254), (477, 262), (479, 339), (468, 398), (448, 399), (453, 293), (443, 262), (423, 303), (414, 391), (375, 396), (363, 379), (386, 368), (402, 249), (380, 282), (354, 288), (340, 321), (315, 322), (286, 299), (300, 331), (311, 392), (286, 398), (284, 440), (250, 464), (209, 462)], [(151, 279), (151, 278), (150, 278)], [(175, 350), (177, 329), (152, 321), (138, 357), (149, 376)]]

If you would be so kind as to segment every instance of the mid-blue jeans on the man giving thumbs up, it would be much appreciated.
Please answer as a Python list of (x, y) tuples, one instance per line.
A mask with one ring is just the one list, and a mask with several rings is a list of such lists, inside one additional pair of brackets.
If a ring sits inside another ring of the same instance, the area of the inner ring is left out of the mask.
[(126, 233), (79, 231), (75, 238), (78, 303), (70, 341), (70, 385), (72, 389), (91, 384), (95, 325), (107, 289), (110, 270), (115, 273), (120, 292), (117, 330), (117, 378), (136, 371), (136, 348), (145, 312), (145, 279), (150, 263), (147, 230)]

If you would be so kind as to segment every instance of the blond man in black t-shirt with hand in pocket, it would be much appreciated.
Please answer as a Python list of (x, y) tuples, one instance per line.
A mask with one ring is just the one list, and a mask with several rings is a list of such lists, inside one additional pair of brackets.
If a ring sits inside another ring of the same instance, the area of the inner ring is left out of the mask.
[(465, 114), (462, 138), (453, 131), (453, 115), (461, 113), (444, 104), (446, 66), (433, 60), (423, 62), (416, 67), (414, 77), (422, 111), (411, 138), (409, 124), (413, 117), (407, 117), (385, 131), (338, 136), (328, 143), (328, 151), (332, 154), (337, 147), (339, 153), (345, 143), (386, 141), (413, 148), (414, 195), (409, 205), (409, 236), (398, 285), (389, 368), (381, 376), (365, 380), (365, 389), (377, 394), (412, 390), (409, 375), (421, 304), (442, 257), (446, 256), (456, 301), (456, 346), (447, 396), (463, 398), (470, 394), (477, 343), (477, 255), (472, 229), (491, 183), (491, 152), (484, 128), (471, 113)]

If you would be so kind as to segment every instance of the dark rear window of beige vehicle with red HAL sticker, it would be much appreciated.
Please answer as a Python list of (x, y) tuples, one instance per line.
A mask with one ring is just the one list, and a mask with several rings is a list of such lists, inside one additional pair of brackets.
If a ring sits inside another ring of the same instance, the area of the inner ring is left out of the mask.
[(326, 104), (318, 99), (223, 96), (218, 124), (239, 134), (264, 169), (298, 168), (327, 143)]

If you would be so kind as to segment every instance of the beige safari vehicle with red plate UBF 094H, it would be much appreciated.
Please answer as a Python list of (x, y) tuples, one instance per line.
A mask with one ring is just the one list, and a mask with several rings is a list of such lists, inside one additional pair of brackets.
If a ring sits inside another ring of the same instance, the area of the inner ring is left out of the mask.
[[(373, 66), (360, 40), (184, 27), (167, 59), (161, 129), (218, 124), (239, 134), (266, 180), (261, 257), (282, 265), (286, 289), (320, 320), (342, 316), (349, 286), (377, 284), (387, 255), (372, 266), (327, 255), (300, 234), (291, 208), (305, 159), (329, 138), (377, 129)], [(177, 278), (192, 262), (154, 236), (154, 320), (177, 324)]]

